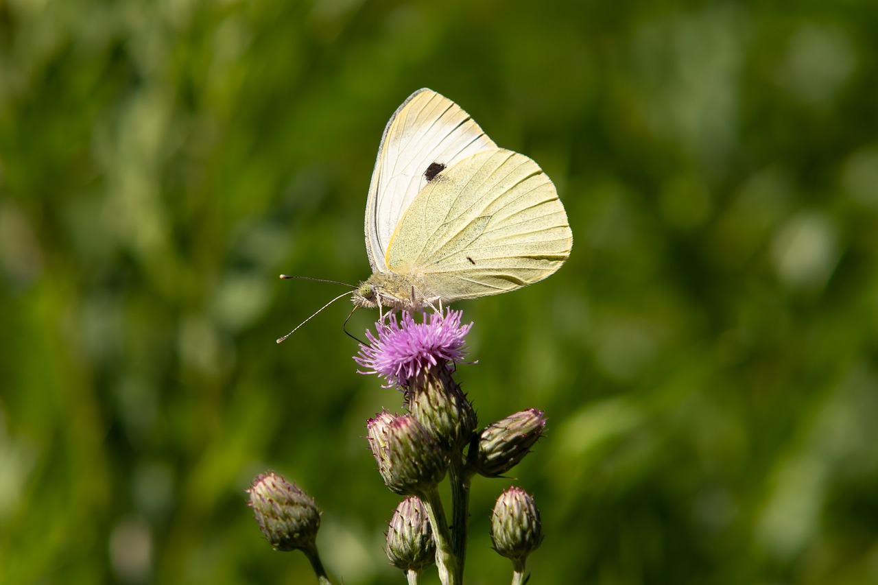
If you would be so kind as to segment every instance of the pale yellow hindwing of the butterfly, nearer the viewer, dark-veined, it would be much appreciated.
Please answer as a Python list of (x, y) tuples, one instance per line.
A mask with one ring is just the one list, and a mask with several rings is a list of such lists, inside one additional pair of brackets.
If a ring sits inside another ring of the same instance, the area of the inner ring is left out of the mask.
[(408, 206), (385, 261), (419, 274), (427, 298), (505, 293), (542, 280), (572, 247), (564, 206), (525, 155), (493, 148), (443, 170)]

